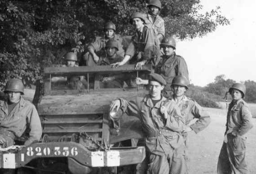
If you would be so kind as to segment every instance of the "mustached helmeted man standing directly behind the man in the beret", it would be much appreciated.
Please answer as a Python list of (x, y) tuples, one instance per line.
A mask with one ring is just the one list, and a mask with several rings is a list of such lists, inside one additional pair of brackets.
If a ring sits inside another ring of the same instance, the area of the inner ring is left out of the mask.
[[(183, 75), (189, 82), (189, 72), (184, 58), (175, 53), (176, 41), (173, 37), (165, 36), (160, 47), (163, 48), (164, 55), (161, 56), (159, 64), (155, 68), (155, 73), (160, 74), (167, 83), (162, 91), (163, 96), (170, 97), (172, 95), (172, 79), (177, 75)], [(138, 85), (147, 84), (148, 80), (136, 78), (136, 83)]]

